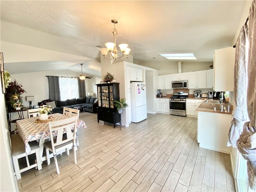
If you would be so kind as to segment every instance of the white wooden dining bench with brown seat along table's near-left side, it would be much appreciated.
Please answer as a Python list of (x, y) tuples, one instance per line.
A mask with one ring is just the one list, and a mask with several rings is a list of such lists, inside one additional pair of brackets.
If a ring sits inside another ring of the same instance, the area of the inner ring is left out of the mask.
[[(29, 142), (29, 145), (31, 148), (31, 152), (29, 155), (26, 155), (25, 144), (24, 144), (24, 141), (22, 140), (22, 138), (19, 136), (19, 134), (12, 134), (11, 143), (12, 143), (12, 161), (13, 161), (14, 171), (15, 171), (17, 180), (19, 180), (21, 178), (20, 173), (22, 173), (26, 170), (32, 169), (36, 166), (38, 167), (38, 170), (42, 169), (41, 158), (40, 158), (40, 149), (39, 149), (39, 145), (36, 141)], [(34, 154), (34, 153), (36, 154), (36, 162), (34, 164), (30, 165), (28, 156), (30, 156), (31, 154)], [(24, 157), (26, 158), (27, 167), (20, 168), (18, 160), (20, 158), (24, 158)]]

